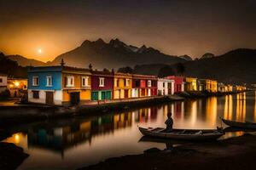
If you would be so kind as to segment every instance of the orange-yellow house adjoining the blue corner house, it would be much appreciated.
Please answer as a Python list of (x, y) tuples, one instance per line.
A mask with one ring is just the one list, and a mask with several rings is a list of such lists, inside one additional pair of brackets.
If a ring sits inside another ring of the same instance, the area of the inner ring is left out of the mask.
[(81, 104), (90, 100), (91, 73), (88, 69), (64, 66), (62, 70), (62, 103)]

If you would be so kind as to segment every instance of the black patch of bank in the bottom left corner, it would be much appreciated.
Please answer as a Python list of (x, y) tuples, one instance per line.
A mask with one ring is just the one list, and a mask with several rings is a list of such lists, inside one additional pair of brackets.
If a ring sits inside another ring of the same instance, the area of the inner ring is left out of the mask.
[(20, 166), (28, 155), (15, 144), (0, 142), (0, 169), (12, 170)]

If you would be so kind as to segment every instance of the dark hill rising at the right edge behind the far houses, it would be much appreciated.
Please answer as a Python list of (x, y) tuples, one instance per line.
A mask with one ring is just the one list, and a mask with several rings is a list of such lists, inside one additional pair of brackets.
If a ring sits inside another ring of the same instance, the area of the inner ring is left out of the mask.
[(256, 83), (256, 50), (239, 48), (213, 58), (184, 63), (185, 74), (225, 83)]

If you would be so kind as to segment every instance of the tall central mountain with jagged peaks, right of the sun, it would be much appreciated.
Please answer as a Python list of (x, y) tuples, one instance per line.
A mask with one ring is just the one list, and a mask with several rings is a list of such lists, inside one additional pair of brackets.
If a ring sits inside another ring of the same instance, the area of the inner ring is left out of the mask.
[(127, 45), (119, 39), (112, 39), (107, 43), (101, 38), (95, 42), (84, 41), (79, 48), (61, 54), (49, 62), (49, 65), (59, 65), (61, 59), (64, 59), (67, 65), (76, 67), (88, 67), (89, 64), (92, 64), (94, 69), (118, 69), (126, 65), (156, 63), (172, 65), (185, 61), (177, 56), (162, 54), (159, 50), (147, 48), (145, 45), (137, 48)]

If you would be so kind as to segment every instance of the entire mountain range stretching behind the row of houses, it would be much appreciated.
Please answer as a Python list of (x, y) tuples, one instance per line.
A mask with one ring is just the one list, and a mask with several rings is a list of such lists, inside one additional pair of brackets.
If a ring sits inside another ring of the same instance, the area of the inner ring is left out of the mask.
[(192, 60), (188, 55), (178, 57), (163, 54), (145, 45), (138, 48), (119, 39), (104, 42), (99, 38), (96, 41), (86, 40), (78, 48), (47, 63), (26, 59), (20, 55), (8, 55), (7, 58), (15, 60), (21, 66), (60, 65), (61, 59), (64, 59), (66, 65), (88, 67), (91, 64), (97, 70), (114, 68), (117, 71), (120, 68), (119, 71), (126, 71), (128, 66), (133, 73), (157, 76), (180, 74), (177, 71), (179, 64), (184, 67), (182, 74), (187, 77), (212, 78), (225, 83), (256, 84), (256, 50), (247, 48), (238, 48), (218, 56), (207, 53)]

